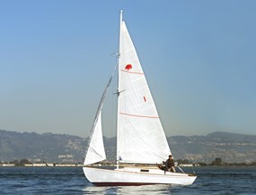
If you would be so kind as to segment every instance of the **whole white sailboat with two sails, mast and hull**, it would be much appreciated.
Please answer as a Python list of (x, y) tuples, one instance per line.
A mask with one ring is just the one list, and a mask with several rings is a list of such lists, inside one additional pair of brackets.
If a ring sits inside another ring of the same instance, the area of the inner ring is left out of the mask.
[(106, 159), (102, 139), (102, 106), (111, 77), (94, 119), (84, 159), (84, 175), (97, 186), (190, 185), (196, 180), (196, 175), (167, 172), (157, 167), (172, 152), (122, 13), (117, 54), (117, 166), (115, 169), (93, 166)]

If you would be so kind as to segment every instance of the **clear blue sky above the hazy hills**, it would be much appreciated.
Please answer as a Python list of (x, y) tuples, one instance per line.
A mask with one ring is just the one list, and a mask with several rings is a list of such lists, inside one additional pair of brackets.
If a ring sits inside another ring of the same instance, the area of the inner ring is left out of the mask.
[[(255, 7), (254, 0), (0, 1), (0, 130), (87, 137), (116, 64), (122, 9), (167, 136), (255, 135)], [(107, 137), (115, 136), (110, 90)]]

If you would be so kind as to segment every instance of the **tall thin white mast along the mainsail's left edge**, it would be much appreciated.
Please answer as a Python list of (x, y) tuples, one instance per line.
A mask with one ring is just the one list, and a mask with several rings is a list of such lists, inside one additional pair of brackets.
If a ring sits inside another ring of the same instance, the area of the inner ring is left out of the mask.
[(117, 168), (119, 168), (119, 75), (120, 75), (120, 43), (121, 43), (121, 26), (123, 22), (123, 11), (120, 11), (120, 23), (119, 23), (119, 68), (118, 68), (118, 113), (117, 113)]

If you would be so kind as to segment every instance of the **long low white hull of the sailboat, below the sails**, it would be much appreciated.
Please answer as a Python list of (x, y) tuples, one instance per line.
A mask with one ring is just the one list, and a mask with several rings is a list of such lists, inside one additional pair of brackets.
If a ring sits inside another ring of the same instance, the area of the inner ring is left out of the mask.
[(115, 170), (83, 167), (89, 182), (98, 186), (175, 184), (190, 185), (197, 176), (165, 172), (160, 169), (120, 168)]

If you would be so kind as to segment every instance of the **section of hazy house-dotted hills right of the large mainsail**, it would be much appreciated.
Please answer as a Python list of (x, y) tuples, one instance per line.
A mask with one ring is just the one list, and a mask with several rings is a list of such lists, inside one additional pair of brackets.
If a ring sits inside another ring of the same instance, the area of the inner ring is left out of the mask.
[(256, 161), (256, 136), (216, 131), (207, 136), (173, 136), (168, 138), (176, 158), (210, 163), (216, 157), (227, 163)]

